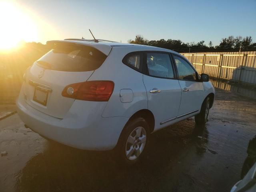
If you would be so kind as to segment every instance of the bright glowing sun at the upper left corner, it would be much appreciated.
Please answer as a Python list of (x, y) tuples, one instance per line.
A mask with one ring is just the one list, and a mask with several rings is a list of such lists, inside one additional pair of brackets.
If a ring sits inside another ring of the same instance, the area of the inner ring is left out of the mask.
[(21, 42), (37, 41), (34, 20), (22, 7), (0, 1), (0, 51), (17, 48)]

